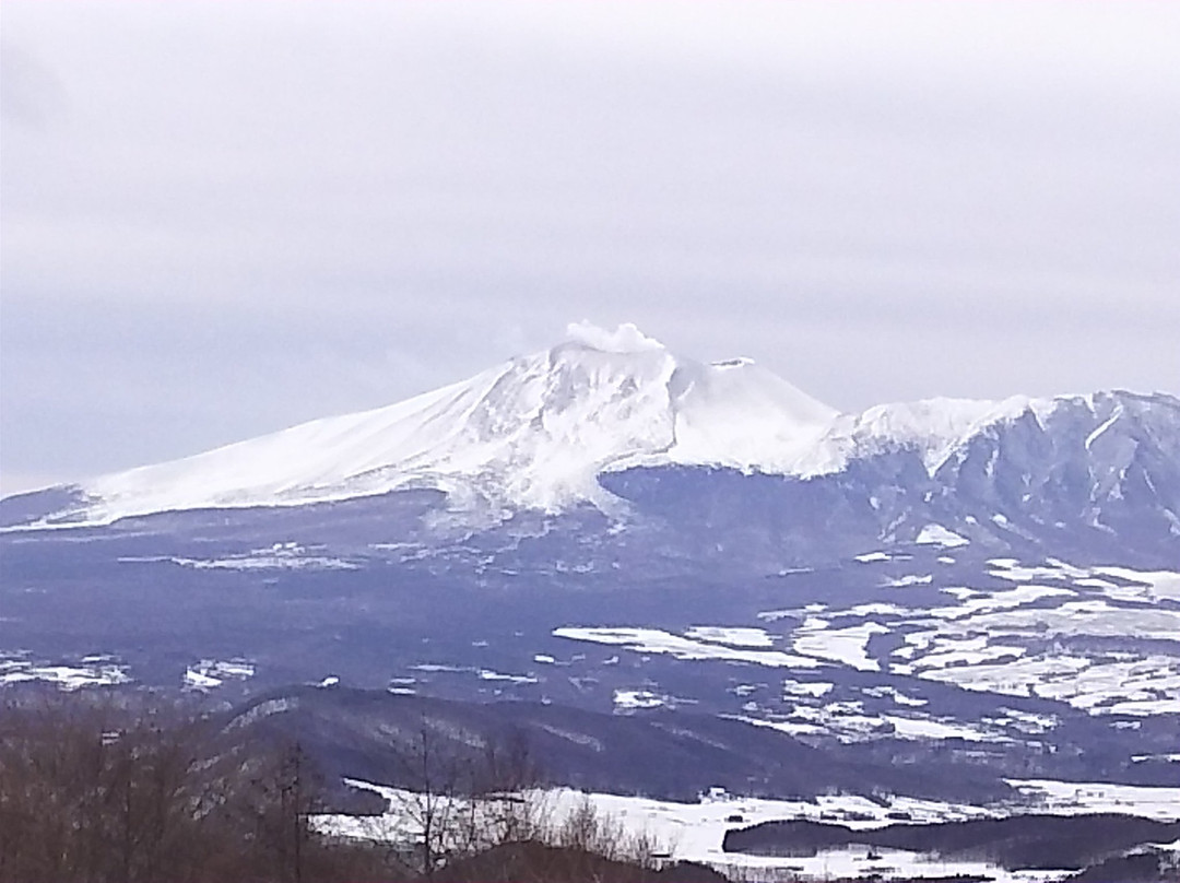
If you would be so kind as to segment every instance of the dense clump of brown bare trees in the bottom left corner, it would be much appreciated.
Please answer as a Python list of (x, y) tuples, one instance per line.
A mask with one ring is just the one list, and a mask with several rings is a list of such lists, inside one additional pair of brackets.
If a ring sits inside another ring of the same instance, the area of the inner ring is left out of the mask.
[(342, 855), (312, 831), (319, 793), (297, 745), (230, 739), (176, 708), (9, 701), (0, 881), (309, 883)]

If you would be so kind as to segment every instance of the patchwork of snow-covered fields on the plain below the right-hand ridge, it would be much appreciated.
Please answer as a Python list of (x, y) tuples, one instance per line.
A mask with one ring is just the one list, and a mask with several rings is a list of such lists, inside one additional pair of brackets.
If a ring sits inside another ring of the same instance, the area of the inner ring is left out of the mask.
[[(938, 525), (929, 526), (929, 542), (957, 548), (935, 530)], [(1050, 699), (1094, 715), (1180, 714), (1180, 573), (994, 558), (985, 577), (970, 584), (930, 586), (932, 575), (897, 575), (899, 560), (906, 558), (884, 552), (856, 557), (860, 567), (891, 568), (885, 582), (896, 601), (843, 608), (809, 603), (759, 613), (756, 626), (695, 626), (683, 634), (617, 626), (564, 627), (553, 635), (689, 662), (811, 671), (814, 681), (784, 678), (782, 696), (793, 707), (771, 713), (750, 696), (740, 715), (794, 735), (827, 734), (841, 741), (1023, 738), (1024, 725), (1015, 720), (970, 724), (917, 711), (925, 700), (899, 692), (897, 676)], [(907, 602), (918, 590), (911, 587), (922, 587), (926, 599), (937, 589), (946, 603)], [(867, 713), (847, 695), (821, 699), (832, 688), (825, 671), (833, 667), (890, 676), (890, 683), (866, 688), (866, 695), (889, 695), (907, 707), (897, 714), (879, 708)], [(618, 707), (664, 704), (657, 689), (645, 689), (642, 698), (624, 696)]]

